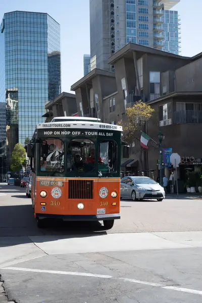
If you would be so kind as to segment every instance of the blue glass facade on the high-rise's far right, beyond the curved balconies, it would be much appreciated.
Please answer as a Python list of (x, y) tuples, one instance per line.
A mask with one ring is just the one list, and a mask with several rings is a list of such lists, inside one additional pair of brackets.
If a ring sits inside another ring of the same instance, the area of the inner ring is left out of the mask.
[(165, 11), (165, 22), (163, 24), (165, 42), (163, 51), (179, 54), (179, 24), (177, 11)]

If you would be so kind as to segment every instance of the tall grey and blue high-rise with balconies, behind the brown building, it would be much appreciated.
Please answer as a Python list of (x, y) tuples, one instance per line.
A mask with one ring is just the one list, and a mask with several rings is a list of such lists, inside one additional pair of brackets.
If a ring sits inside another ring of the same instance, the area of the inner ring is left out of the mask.
[[(90, 0), (90, 56), (109, 70), (108, 59), (129, 42), (178, 54), (180, 0)], [(174, 18), (172, 18), (172, 16)]]

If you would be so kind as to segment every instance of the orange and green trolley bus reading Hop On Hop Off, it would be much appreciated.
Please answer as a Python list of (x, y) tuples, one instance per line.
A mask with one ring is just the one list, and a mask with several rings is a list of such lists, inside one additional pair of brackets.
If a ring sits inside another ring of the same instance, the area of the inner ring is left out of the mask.
[(110, 229), (120, 219), (121, 132), (121, 126), (84, 117), (36, 126), (27, 154), (38, 227), (45, 218), (60, 218), (103, 221)]

